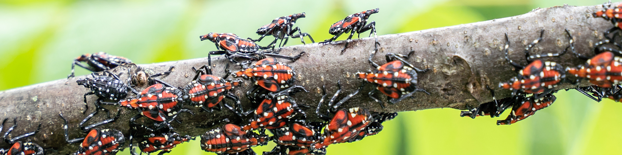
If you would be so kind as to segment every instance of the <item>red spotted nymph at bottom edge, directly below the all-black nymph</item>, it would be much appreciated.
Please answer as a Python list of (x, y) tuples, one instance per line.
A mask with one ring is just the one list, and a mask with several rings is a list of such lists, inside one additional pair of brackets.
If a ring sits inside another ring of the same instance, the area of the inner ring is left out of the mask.
[(83, 155), (114, 155), (119, 149), (123, 148), (125, 144), (125, 137), (123, 133), (119, 130), (115, 129), (104, 129), (100, 130), (95, 127), (101, 126), (107, 123), (115, 122), (116, 119), (120, 117), (121, 110), (117, 113), (116, 117), (104, 120), (103, 122), (95, 123), (89, 126), (81, 126), (82, 131), (89, 131), (85, 138), (76, 138), (69, 139), (69, 131), (67, 128), (67, 119), (63, 117), (62, 113), (58, 114), (60, 118), (65, 121), (65, 125), (63, 126), (63, 130), (65, 130), (65, 141), (67, 143), (80, 143), (80, 148), (78, 151), (73, 153), (73, 155), (83, 154)]

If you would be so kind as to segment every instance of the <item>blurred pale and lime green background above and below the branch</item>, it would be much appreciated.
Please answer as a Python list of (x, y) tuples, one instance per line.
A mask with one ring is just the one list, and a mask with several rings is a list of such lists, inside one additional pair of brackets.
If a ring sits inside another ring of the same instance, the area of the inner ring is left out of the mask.
[[(207, 56), (209, 32), (258, 38), (272, 19), (306, 12), (297, 26), (317, 42), (346, 15), (380, 8), (371, 16), (378, 34), (411, 32), (524, 14), (537, 7), (587, 6), (605, 0), (420, 0), (420, 1), (146, 1), (0, 0), (0, 90), (67, 78), (73, 58), (105, 51), (135, 63)], [(347, 35), (340, 37), (343, 40)], [(271, 41), (271, 37), (260, 45)], [(301, 44), (292, 39), (289, 45)], [(88, 74), (77, 69), (77, 74)], [(462, 118), (460, 110), (401, 112), (384, 131), (355, 143), (335, 144), (328, 154), (620, 154), (622, 104), (597, 103), (561, 91), (557, 102), (514, 125), (498, 118)], [(572, 102), (570, 102), (572, 101)], [(509, 111), (509, 110), (508, 110)], [(507, 115), (506, 112), (504, 114)], [(502, 118), (504, 118), (504, 116)], [(258, 153), (274, 146), (254, 148)], [(129, 154), (128, 150), (119, 154)], [(198, 140), (175, 154), (203, 152)]]

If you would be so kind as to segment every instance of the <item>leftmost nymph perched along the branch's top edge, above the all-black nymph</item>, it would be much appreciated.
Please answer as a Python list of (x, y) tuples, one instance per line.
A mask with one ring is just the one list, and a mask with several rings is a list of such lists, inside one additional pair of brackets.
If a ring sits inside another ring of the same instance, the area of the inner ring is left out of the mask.
[[(86, 62), (86, 64), (82, 64), (80, 62)], [(108, 55), (108, 53), (100, 52), (93, 54), (84, 54), (78, 56), (72, 63), (72, 74), (67, 76), (68, 78), (74, 77), (73, 72), (75, 71), (75, 65), (78, 65), (82, 68), (88, 69), (92, 72), (105, 71), (112, 68), (116, 68), (121, 64), (132, 63), (128, 58), (123, 58), (121, 56)]]

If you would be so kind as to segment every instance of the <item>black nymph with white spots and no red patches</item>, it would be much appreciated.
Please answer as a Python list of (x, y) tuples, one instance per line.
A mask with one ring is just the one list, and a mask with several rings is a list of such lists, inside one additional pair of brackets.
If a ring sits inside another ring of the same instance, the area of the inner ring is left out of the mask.
[[(130, 71), (128, 69), (128, 75), (129, 74)], [(125, 99), (130, 91), (134, 94), (139, 94), (136, 89), (129, 86), (129, 84), (131, 84), (131, 76), (128, 76), (127, 83), (123, 82), (119, 76), (110, 73), (109, 71), (104, 71), (103, 74), (97, 74), (97, 76), (95, 76), (95, 73), (91, 73), (91, 76), (93, 76), (93, 79), (85, 78), (78, 79), (78, 81), (76, 81), (78, 85), (91, 89), (91, 92), (84, 94), (84, 104), (86, 108), (83, 113), (86, 113), (86, 110), (88, 110), (88, 105), (86, 104), (87, 95), (97, 95), (97, 97), (99, 97), (99, 99), (95, 101), (95, 107), (97, 108), (95, 112), (91, 113), (91, 115), (95, 115), (98, 110), (104, 110), (108, 112), (109, 118), (109, 110), (101, 107), (101, 102), (119, 102), (119, 100)]]

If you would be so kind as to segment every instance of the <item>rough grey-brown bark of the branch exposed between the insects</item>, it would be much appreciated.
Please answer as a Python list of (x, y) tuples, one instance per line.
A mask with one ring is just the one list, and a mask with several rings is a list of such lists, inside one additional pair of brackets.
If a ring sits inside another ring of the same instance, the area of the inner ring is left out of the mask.
[[(455, 25), (437, 29), (421, 30), (417, 32), (400, 33), (379, 36), (381, 49), (374, 58), (376, 63), (384, 63), (386, 53), (407, 54), (414, 50), (415, 54), (409, 61), (418, 68), (430, 68), (431, 71), (419, 74), (419, 87), (426, 89), (430, 95), (422, 92), (415, 94), (415, 99), (407, 99), (399, 104), (381, 108), (377, 103), (367, 97), (371, 91), (371, 85), (367, 85), (360, 94), (353, 97), (350, 102), (342, 107), (364, 107), (377, 112), (402, 112), (423, 110), (429, 108), (459, 108), (465, 109), (465, 105), (474, 107), (480, 103), (492, 100), (490, 93), (485, 89), (486, 85), (495, 88), (499, 99), (509, 97), (507, 90), (498, 88), (498, 82), (506, 81), (516, 76), (516, 71), (504, 60), (501, 48), (504, 45), (504, 33), (508, 33), (511, 46), (510, 54), (514, 61), (524, 63), (522, 53), (525, 45), (539, 37), (539, 30), (544, 29), (544, 40), (537, 45), (534, 53), (558, 53), (569, 45), (568, 37), (564, 29), (569, 29), (575, 38), (575, 48), (580, 53), (592, 52), (593, 43), (601, 40), (601, 33), (613, 25), (601, 18), (592, 17), (592, 12), (600, 9), (599, 6), (562, 6), (547, 9), (536, 9), (527, 14), (503, 19), (476, 22), (473, 24)], [(313, 115), (313, 108), (320, 100), (320, 87), (326, 85), (328, 94), (337, 91), (337, 81), (341, 80), (344, 92), (341, 96), (354, 91), (361, 84), (360, 79), (355, 77), (357, 71), (373, 69), (368, 64), (369, 53), (374, 49), (373, 38), (353, 40), (350, 47), (343, 55), (340, 49), (344, 42), (334, 42), (328, 45), (317, 43), (283, 48), (281, 54), (295, 55), (301, 51), (307, 52), (295, 63), (287, 62), (294, 66), (297, 71), (298, 82), (309, 90), (309, 93), (301, 92), (295, 95), (295, 99), (305, 112), (309, 113), (309, 119), (317, 119)], [(549, 58), (557, 61), (562, 66), (575, 66), (584, 61), (572, 54), (560, 58)], [(284, 61), (284, 60), (281, 60)], [(69, 62), (67, 62), (69, 64)], [(225, 59), (213, 61), (215, 74), (223, 76)], [(193, 60), (181, 60), (174, 62), (139, 64), (137, 65), (147, 73), (166, 71), (169, 66), (175, 66), (174, 73), (160, 79), (174, 86), (184, 86), (190, 82), (194, 73), (190, 68), (207, 64), (207, 58)], [(113, 69), (113, 73), (124, 73), (121, 78), (127, 78), (127, 69), (131, 68), (132, 74), (137, 71), (136, 66), (127, 65)], [(232, 65), (232, 70), (239, 69)], [(62, 120), (58, 113), (63, 113), (70, 120), (70, 138), (85, 136), (77, 128), (77, 123), (85, 115), (82, 102), (83, 94), (88, 92), (83, 86), (78, 86), (76, 80), (85, 78), (78, 76), (71, 79), (60, 79), (32, 86), (26, 86), (0, 92), (0, 118), (17, 117), (19, 125), (12, 135), (21, 135), (26, 131), (35, 130), (37, 124), (42, 123), (42, 130), (26, 141), (33, 141), (47, 149), (48, 154), (66, 154), (77, 149), (77, 144), (67, 144), (63, 138)], [(583, 83), (587, 85), (587, 83)], [(244, 92), (252, 86), (250, 81), (245, 81), (243, 87), (237, 87), (236, 94), (241, 98)], [(137, 87), (140, 91), (146, 86)], [(562, 84), (558, 89), (569, 88), (569, 84)], [(384, 97), (381, 97), (384, 100)], [(93, 106), (96, 96), (88, 97), (88, 104)], [(249, 109), (248, 100), (243, 100), (245, 109)], [(114, 113), (116, 107), (106, 106)], [(90, 108), (88, 112), (92, 112)], [(191, 108), (196, 115), (181, 115), (182, 124), (173, 123), (175, 128), (183, 135), (198, 136), (208, 129), (195, 128), (200, 125), (211, 123), (224, 118), (239, 120), (230, 111), (207, 113), (199, 112), (198, 108)], [(137, 114), (132, 110), (123, 109), (122, 117), (118, 122), (105, 125), (101, 128), (116, 128), (128, 133), (130, 117)], [(458, 117), (458, 113), (455, 113)], [(104, 117), (93, 121), (100, 121)], [(92, 122), (92, 121), (91, 121)], [(151, 123), (150, 120), (141, 118), (139, 123)], [(8, 128), (12, 123), (7, 123)], [(6, 131), (6, 129), (5, 129)], [(127, 146), (127, 145), (126, 145)], [(8, 144), (0, 142), (1, 148), (8, 148)]]

